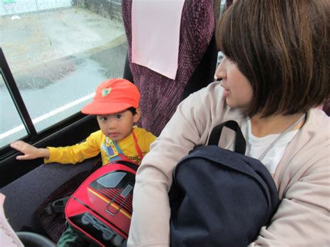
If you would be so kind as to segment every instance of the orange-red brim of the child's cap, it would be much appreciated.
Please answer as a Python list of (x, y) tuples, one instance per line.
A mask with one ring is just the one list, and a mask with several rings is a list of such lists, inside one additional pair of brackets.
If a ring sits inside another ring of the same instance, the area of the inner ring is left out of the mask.
[(120, 111), (125, 111), (130, 107), (138, 108), (139, 106), (132, 106), (132, 104), (127, 103), (111, 103), (109, 102), (91, 102), (81, 109), (84, 114), (91, 115), (108, 115), (113, 113), (118, 113)]

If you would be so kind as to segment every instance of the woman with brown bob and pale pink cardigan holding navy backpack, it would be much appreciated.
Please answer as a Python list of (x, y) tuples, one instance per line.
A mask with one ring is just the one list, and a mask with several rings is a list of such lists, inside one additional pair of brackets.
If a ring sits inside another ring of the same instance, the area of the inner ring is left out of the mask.
[[(237, 1), (226, 10), (217, 26), (222, 81), (184, 100), (143, 159), (128, 246), (169, 246), (173, 168), (226, 120), (239, 123), (246, 155), (258, 159), (274, 144), (261, 161), (281, 204), (251, 246), (330, 245), (330, 120), (318, 107), (330, 95), (329, 17), (327, 0)], [(233, 136), (225, 139), (233, 150)]]

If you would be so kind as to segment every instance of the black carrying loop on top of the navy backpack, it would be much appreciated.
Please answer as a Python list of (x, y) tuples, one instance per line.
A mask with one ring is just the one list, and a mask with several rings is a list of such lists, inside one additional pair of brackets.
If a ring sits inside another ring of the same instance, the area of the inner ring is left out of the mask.
[(229, 120), (227, 122), (222, 122), (220, 125), (217, 125), (212, 129), (209, 142), (207, 145), (219, 145), (220, 136), (223, 127), (228, 127), (229, 129), (232, 129), (234, 132), (236, 132), (235, 136), (235, 152), (238, 152), (239, 154), (245, 154), (246, 150), (246, 141), (242, 134), (242, 131), (238, 125), (237, 122), (234, 120)]

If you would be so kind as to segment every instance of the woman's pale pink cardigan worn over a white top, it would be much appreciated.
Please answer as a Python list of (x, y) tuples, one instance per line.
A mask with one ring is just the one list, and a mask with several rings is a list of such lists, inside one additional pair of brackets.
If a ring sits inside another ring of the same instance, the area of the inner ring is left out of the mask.
[[(215, 82), (190, 95), (152, 143), (136, 176), (128, 246), (169, 246), (167, 193), (175, 164), (195, 145), (205, 145), (220, 122), (246, 121), (238, 110), (226, 106), (222, 93)], [(281, 204), (250, 246), (330, 246), (329, 127), (323, 111), (308, 111), (274, 173)], [(230, 134), (221, 143), (233, 150)]]

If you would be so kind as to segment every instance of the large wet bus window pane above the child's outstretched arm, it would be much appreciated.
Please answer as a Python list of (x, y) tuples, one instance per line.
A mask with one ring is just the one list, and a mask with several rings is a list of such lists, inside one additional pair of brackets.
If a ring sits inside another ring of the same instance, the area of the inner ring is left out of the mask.
[(123, 77), (120, 2), (0, 2), (1, 47), (37, 132), (79, 112), (104, 79)]

